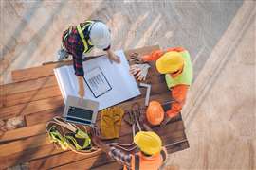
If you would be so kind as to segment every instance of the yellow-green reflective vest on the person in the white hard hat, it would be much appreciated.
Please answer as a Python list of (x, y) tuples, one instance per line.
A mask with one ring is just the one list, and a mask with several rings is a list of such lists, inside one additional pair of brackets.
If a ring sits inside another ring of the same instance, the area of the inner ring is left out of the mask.
[(80, 38), (82, 39), (82, 43), (83, 43), (83, 47), (84, 47), (84, 50), (83, 50), (83, 54), (85, 53), (89, 53), (91, 50), (92, 50), (92, 43), (90, 42), (88, 36), (86, 36), (86, 38), (84, 37), (84, 34), (83, 34), (83, 30), (87, 27), (87, 26), (90, 26), (93, 24), (93, 21), (86, 21), (85, 22), (85, 26), (80, 26), (78, 25), (77, 26), (77, 30), (79, 32), (79, 36)]

